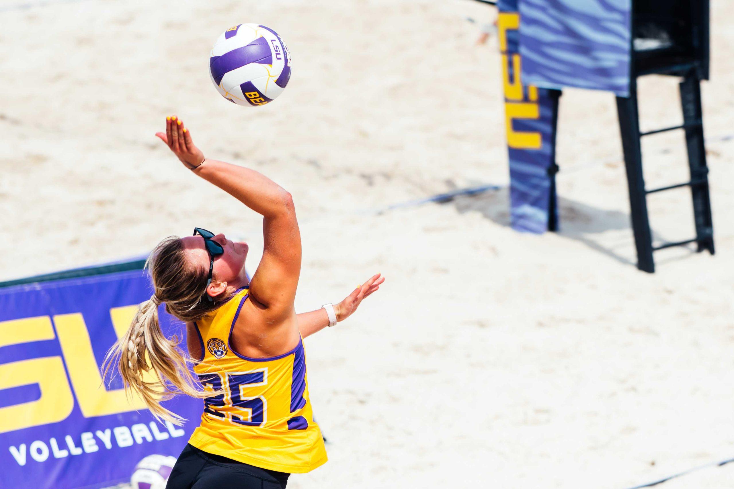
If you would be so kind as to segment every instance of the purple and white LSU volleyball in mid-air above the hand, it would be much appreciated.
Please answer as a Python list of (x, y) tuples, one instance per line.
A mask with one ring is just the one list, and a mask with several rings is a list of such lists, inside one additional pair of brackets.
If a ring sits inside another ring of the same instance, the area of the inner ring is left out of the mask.
[(239, 106), (263, 106), (283, 93), (291, 54), (277, 33), (256, 23), (227, 29), (214, 44), (209, 74), (222, 97)]

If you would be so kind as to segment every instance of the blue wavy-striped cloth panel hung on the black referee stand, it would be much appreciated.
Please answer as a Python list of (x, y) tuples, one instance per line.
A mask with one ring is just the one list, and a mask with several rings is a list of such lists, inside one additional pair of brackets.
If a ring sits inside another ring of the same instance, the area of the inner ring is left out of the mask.
[(523, 80), (630, 95), (631, 0), (520, 0)]

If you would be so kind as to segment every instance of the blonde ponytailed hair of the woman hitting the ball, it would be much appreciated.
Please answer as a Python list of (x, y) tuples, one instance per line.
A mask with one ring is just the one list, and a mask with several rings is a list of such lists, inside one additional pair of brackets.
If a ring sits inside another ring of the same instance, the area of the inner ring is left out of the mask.
[[(209, 397), (217, 392), (204, 391), (189, 370), (194, 363), (178, 347), (177, 336), (168, 339), (161, 331), (158, 306), (184, 322), (199, 320), (217, 309), (219, 301), (206, 298), (208, 269), (195, 267), (184, 253), (181, 238), (170, 236), (156, 246), (145, 262), (155, 288), (148, 301), (140, 304), (128, 331), (107, 352), (103, 371), (117, 363), (128, 394), (138, 394), (156, 419), (182, 424), (185, 419), (169, 411), (161, 402), (177, 394)], [(145, 375), (144, 373), (153, 375)], [(152, 379), (152, 380), (151, 380)]]

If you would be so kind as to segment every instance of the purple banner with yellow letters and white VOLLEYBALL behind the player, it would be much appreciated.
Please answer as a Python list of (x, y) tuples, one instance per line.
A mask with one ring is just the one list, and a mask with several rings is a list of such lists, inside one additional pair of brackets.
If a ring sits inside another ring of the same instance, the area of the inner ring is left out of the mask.
[[(128, 482), (146, 455), (178, 456), (201, 401), (165, 402), (188, 421), (161, 424), (101, 375), (150, 294), (142, 271), (0, 289), (0, 487), (100, 488)], [(162, 308), (161, 327), (183, 334)]]

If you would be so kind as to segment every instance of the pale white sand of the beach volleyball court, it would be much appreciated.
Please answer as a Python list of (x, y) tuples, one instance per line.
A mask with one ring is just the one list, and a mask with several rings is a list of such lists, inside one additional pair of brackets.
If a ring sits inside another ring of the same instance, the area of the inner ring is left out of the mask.
[[(3, 0), (4, 6), (16, 4)], [(211, 6), (214, 4), (214, 6)], [(297, 202), (297, 306), (388, 281), (308, 339), (330, 463), (292, 488), (622, 489), (734, 457), (734, 7), (713, 2), (705, 84), (716, 257), (672, 249), (639, 272), (614, 98), (568, 90), (563, 232), (507, 226), (506, 191), (382, 215), (393, 202), (507, 183), (496, 43), (468, 1), (98, 1), (0, 12), (2, 279), (142, 254), (197, 226), (261, 243), (258, 218), (192, 177), (153, 133), (178, 114), (210, 157)], [(260, 109), (219, 98), (208, 50), (272, 26), (294, 74)], [(643, 127), (680, 120), (675, 80), (641, 87)], [(650, 186), (686, 178), (683, 137), (645, 142)], [(667, 151), (667, 152), (666, 152)], [(650, 197), (655, 237), (693, 235), (688, 191)], [(22, 246), (13, 246), (15, 242)], [(669, 488), (734, 488), (713, 468)]]

